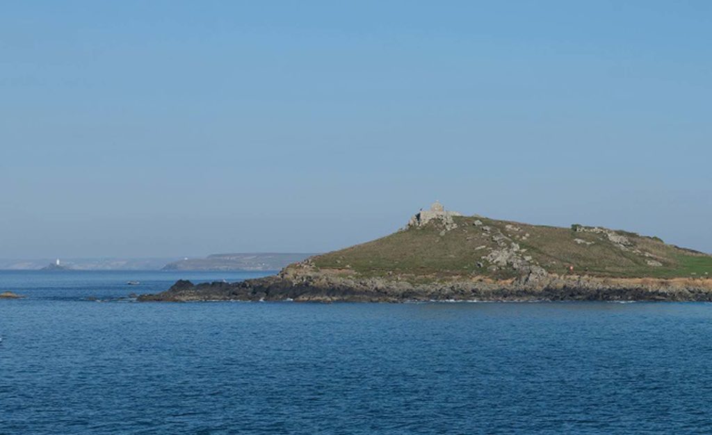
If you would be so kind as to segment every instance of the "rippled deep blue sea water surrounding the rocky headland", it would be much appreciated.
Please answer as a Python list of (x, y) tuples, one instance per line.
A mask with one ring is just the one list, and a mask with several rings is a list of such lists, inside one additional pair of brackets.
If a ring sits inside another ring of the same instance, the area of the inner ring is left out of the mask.
[(251, 276), (0, 272), (0, 433), (712, 431), (712, 304), (126, 298)]

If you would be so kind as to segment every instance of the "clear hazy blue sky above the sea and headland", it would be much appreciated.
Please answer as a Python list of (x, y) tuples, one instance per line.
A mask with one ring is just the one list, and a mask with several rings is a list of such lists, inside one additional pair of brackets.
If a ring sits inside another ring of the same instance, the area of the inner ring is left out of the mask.
[(712, 2), (4, 1), (0, 258), (321, 252), (439, 199), (712, 252)]

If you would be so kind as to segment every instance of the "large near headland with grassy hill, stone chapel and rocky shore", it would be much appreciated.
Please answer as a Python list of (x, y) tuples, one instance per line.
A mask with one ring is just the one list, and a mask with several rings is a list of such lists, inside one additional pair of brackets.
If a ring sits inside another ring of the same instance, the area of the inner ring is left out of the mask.
[(464, 216), (436, 202), (394, 234), (276, 276), (139, 300), (712, 300), (712, 256), (657, 237)]

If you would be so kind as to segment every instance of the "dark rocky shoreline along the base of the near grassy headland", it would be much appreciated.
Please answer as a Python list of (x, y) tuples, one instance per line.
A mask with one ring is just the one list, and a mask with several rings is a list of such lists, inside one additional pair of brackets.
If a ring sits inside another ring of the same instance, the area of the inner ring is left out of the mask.
[(418, 283), (415, 277), (362, 278), (342, 271), (294, 270), (239, 283), (178, 281), (162, 293), (140, 295), (142, 302), (207, 300), (293, 300), (295, 302), (387, 302), (431, 300), (602, 300), (712, 301), (709, 278), (597, 278), (533, 275), (496, 281), (486, 277)]

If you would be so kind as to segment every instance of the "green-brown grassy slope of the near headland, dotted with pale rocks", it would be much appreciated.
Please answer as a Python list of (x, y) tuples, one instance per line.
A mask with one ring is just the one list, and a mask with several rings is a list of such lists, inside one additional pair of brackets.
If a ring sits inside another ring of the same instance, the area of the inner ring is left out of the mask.
[(532, 268), (558, 275), (614, 278), (712, 276), (712, 256), (655, 237), (479, 216), (448, 216), (422, 225), (409, 224), (389, 236), (315, 256), (312, 261), (318, 269), (424, 280), (465, 276), (507, 279)]

